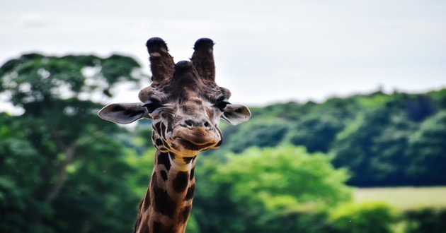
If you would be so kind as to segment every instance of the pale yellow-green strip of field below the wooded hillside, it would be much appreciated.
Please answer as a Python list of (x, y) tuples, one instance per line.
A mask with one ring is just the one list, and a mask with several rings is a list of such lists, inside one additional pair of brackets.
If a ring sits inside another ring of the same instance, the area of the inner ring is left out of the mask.
[(383, 201), (399, 210), (446, 208), (446, 186), (354, 189), (356, 203)]

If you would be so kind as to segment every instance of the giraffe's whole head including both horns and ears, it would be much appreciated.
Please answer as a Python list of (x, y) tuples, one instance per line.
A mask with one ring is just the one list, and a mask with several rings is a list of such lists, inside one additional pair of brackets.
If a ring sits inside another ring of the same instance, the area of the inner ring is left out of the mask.
[(240, 124), (249, 109), (229, 103), (231, 92), (215, 83), (214, 42), (195, 42), (190, 61), (173, 62), (164, 40), (147, 41), (152, 83), (139, 92), (141, 102), (109, 104), (99, 117), (118, 124), (152, 120), (152, 141), (161, 152), (192, 157), (222, 143), (219, 119)]

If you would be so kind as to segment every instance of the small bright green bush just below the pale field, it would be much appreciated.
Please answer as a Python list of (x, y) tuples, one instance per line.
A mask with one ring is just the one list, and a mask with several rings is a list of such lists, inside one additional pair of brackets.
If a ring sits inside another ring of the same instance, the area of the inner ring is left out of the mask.
[(334, 232), (391, 232), (395, 221), (393, 210), (384, 203), (346, 203), (331, 213)]

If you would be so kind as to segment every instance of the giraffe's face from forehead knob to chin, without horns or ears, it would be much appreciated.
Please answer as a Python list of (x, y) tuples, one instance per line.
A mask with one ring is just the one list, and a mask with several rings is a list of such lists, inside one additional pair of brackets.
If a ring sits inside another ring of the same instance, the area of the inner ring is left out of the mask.
[(161, 152), (194, 156), (222, 143), (218, 128), (231, 93), (204, 83), (188, 61), (176, 64), (168, 83), (152, 83), (139, 93), (152, 119), (152, 141)]

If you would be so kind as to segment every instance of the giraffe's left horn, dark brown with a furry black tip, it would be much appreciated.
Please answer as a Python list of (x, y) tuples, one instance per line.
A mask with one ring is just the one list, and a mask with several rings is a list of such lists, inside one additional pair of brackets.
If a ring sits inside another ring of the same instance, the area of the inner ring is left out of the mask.
[(151, 80), (160, 83), (171, 78), (175, 63), (168, 53), (166, 42), (159, 37), (152, 37), (147, 40), (146, 47), (149, 52)]

